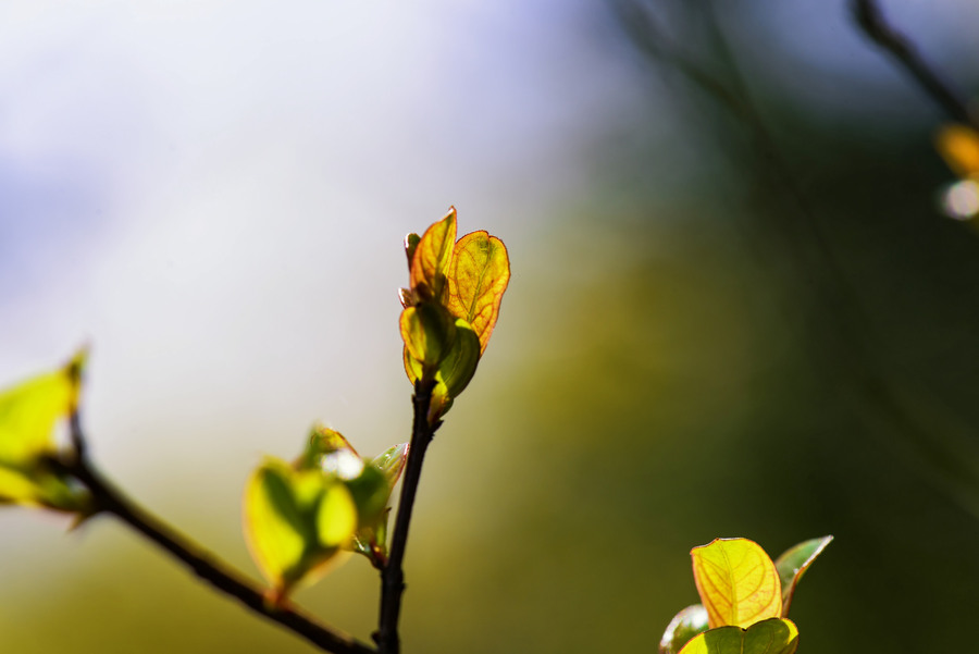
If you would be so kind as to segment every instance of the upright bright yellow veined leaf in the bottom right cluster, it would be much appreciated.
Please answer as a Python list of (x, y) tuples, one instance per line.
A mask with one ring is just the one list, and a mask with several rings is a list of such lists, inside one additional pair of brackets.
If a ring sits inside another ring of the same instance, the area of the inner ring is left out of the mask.
[(781, 616), (779, 573), (760, 545), (747, 539), (715, 539), (690, 554), (711, 629), (744, 628)]

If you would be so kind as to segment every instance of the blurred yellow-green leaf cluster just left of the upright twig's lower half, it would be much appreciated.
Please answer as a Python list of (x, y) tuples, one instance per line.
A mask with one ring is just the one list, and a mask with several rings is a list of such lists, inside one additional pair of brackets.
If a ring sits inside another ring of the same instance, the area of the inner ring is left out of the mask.
[(384, 567), (387, 501), (407, 456), (402, 443), (362, 459), (339, 432), (317, 425), (292, 465), (267, 457), (252, 472), (245, 535), (274, 601), (322, 577), (344, 551)]

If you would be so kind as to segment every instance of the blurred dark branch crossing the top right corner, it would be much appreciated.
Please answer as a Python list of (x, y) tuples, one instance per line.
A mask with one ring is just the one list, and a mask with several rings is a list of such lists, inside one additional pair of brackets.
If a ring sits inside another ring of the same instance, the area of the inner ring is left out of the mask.
[(929, 66), (915, 45), (888, 23), (876, 0), (853, 0), (851, 5), (857, 25), (870, 40), (890, 52), (952, 120), (979, 129), (979, 116), (968, 102), (933, 67)]

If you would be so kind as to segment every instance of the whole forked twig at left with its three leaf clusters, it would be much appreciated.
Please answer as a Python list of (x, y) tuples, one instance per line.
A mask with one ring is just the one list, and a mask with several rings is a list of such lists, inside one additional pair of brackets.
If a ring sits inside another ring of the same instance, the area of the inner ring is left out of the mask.
[[(209, 554), (119, 494), (90, 465), (77, 410), (84, 353), (0, 393), (0, 504), (75, 514), (76, 522), (99, 511), (112, 514), (215, 588), (327, 651), (374, 650), (292, 612), (286, 600), (344, 553), (362, 554), (382, 571), (379, 651), (396, 652), (400, 566), (422, 457), (441, 417), (475, 372), (510, 279), (498, 238), (480, 231), (456, 240), (455, 209), (423, 236), (410, 234), (406, 249), (409, 287), (401, 289), (399, 328), (405, 369), (416, 386), (412, 456), (409, 444), (401, 443), (364, 459), (339, 432), (315, 425), (293, 462), (265, 457), (246, 484), (244, 514), (245, 539), (268, 591), (214, 565)], [(65, 418), (71, 439), (59, 445), (55, 425)], [(404, 513), (388, 559), (388, 502), (406, 467), (410, 492), (401, 498)]]

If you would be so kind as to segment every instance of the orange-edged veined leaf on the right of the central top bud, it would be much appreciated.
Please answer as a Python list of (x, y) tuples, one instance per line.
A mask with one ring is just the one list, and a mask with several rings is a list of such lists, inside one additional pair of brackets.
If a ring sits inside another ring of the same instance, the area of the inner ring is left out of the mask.
[(486, 350), (509, 281), (510, 260), (503, 240), (484, 231), (459, 239), (453, 254), (445, 305), (456, 318), (472, 325), (480, 338), (480, 354)]

